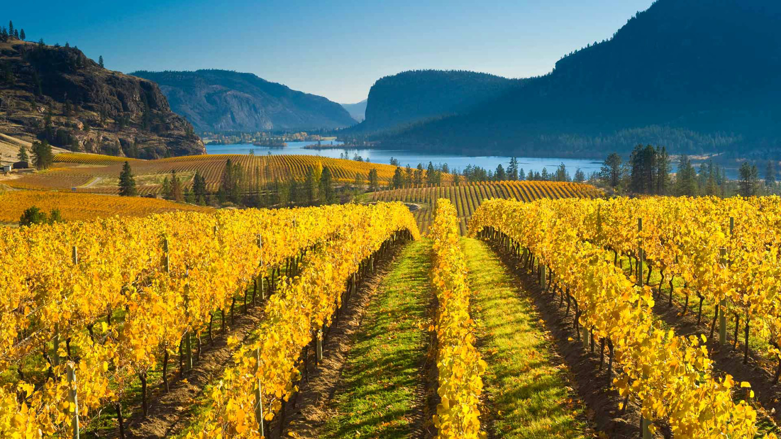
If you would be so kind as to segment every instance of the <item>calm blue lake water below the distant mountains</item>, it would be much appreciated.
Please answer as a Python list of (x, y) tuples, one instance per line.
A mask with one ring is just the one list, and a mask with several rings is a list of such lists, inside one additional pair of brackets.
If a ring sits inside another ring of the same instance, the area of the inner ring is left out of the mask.
[[(369, 159), (370, 162), (389, 164), (391, 157), (398, 159), (401, 166), (418, 166), (418, 163), (423, 163), (423, 166), (427, 166), (429, 162), (433, 162), (436, 166), (440, 163), (448, 163), (451, 170), (463, 170), (467, 165), (480, 166), (487, 170), (496, 170), (496, 166), (501, 163), (501, 166), (507, 169), (510, 164), (510, 157), (502, 155), (483, 155), (479, 157), (473, 157), (468, 155), (453, 155), (453, 154), (431, 154), (431, 153), (419, 153), (409, 150), (401, 149), (305, 149), (305, 145), (312, 145), (316, 142), (311, 141), (294, 141), (287, 142), (286, 148), (266, 148), (262, 146), (254, 146), (252, 144), (239, 144), (239, 145), (206, 145), (206, 152), (209, 154), (249, 154), (250, 149), (255, 150), (255, 155), (266, 154), (296, 154), (296, 155), (319, 155), (322, 157), (331, 157), (339, 159), (339, 155), (344, 156), (344, 152), (348, 152), (350, 159), (353, 155), (358, 154), (363, 157), (364, 160)], [(323, 141), (323, 145), (341, 145), (338, 141)], [(567, 167), (567, 171), (570, 176), (575, 174), (575, 171), (580, 168), (586, 176), (594, 171), (599, 171), (602, 166), (601, 160), (596, 159), (558, 159), (555, 157), (549, 158), (537, 158), (537, 157), (518, 157), (518, 166), (523, 168), (524, 172), (528, 173), (530, 170), (535, 172), (542, 172), (543, 168), (547, 169), (548, 173), (556, 170), (556, 167), (560, 163), (564, 163)]]

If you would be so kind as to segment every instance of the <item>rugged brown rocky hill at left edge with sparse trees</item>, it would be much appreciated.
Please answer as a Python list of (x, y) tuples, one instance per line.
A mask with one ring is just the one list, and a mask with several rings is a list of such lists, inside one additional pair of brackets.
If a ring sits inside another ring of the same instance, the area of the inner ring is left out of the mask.
[(204, 154), (151, 81), (106, 70), (78, 48), (0, 42), (0, 133), (110, 155)]

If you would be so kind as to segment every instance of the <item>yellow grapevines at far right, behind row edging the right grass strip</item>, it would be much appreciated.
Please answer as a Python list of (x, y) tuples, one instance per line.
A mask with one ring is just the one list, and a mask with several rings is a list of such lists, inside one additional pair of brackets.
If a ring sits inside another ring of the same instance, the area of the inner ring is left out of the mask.
[(569, 202), (564, 209), (581, 239), (615, 255), (637, 260), (639, 237), (647, 275), (654, 268), (662, 273), (659, 293), (668, 280), (672, 299), (672, 280), (683, 279), (684, 307), (690, 297), (699, 299), (700, 309), (702, 302), (711, 302), (719, 309), (722, 328), (723, 319), (733, 317), (733, 337), (742, 336), (744, 356), (753, 327), (767, 341), (769, 355), (781, 358), (781, 198), (616, 198)]

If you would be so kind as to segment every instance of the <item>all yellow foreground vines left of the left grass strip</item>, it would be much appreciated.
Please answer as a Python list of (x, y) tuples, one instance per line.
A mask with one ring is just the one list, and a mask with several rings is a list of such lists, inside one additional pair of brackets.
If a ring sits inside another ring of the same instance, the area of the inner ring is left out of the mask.
[(113, 405), (124, 436), (132, 384), (141, 381), (146, 412), (152, 371), (161, 370), (167, 389), (177, 347), (180, 368), (191, 368), (216, 313), (224, 333), (237, 298), (248, 309), (251, 285), (264, 319), (251, 342), (229, 338), (236, 365), (191, 435), (257, 437), (294, 392), (302, 349), (306, 363), (305, 348), (322, 340), (356, 275), (394, 241), (415, 237), (398, 204), (0, 230), (0, 367), (10, 372), (0, 387), (0, 433), (70, 436)]

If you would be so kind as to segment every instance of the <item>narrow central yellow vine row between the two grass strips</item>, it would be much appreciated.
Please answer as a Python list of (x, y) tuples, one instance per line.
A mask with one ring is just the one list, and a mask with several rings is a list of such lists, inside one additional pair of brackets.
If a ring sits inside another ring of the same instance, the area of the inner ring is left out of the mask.
[(475, 348), (475, 323), (469, 317), (466, 264), (458, 243), (458, 216), (447, 199), (437, 202), (431, 226), (432, 283), (437, 294), (437, 394), (433, 416), (437, 437), (485, 437), (480, 429), (480, 394), (486, 362)]

